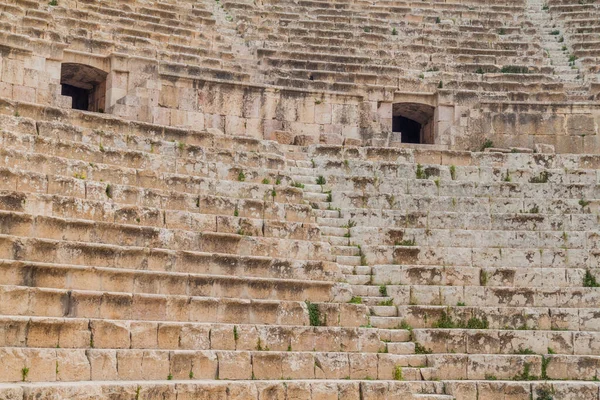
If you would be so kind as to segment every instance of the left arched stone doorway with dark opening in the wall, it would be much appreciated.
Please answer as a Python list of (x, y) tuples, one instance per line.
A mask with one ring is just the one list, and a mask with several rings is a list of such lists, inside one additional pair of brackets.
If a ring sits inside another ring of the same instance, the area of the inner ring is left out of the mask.
[(90, 65), (64, 63), (60, 71), (61, 94), (73, 99), (73, 109), (104, 112), (107, 75)]

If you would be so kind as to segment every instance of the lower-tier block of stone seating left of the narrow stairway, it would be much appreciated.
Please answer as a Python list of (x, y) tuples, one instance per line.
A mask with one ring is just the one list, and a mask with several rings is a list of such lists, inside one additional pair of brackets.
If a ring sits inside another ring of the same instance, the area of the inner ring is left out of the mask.
[(0, 137), (4, 398), (451, 398), (423, 380), (409, 332), (373, 329), (340, 283), (305, 204), (328, 195), (293, 185), (310, 161), (247, 138), (13, 114)]

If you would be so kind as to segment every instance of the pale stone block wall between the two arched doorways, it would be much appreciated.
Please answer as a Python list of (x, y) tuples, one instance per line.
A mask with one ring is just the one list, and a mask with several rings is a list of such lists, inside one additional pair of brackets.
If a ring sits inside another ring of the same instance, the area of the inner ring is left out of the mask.
[[(216, 129), (226, 135), (294, 143), (360, 140), (362, 97), (312, 93), (161, 74), (112, 112), (131, 120)], [(297, 139), (295, 139), (297, 138)]]

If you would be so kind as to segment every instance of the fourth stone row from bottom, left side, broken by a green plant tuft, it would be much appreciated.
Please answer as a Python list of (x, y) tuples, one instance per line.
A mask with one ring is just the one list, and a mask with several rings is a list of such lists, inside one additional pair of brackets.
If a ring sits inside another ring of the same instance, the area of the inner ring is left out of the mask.
[[(309, 324), (305, 302), (0, 286), (4, 315), (219, 322), (265, 325)], [(316, 303), (321, 323), (366, 325), (366, 307)], [(322, 310), (321, 310), (322, 309)], [(343, 310), (343, 312), (342, 312)], [(323, 315), (321, 315), (323, 313)], [(326, 315), (326, 316), (325, 316)]]

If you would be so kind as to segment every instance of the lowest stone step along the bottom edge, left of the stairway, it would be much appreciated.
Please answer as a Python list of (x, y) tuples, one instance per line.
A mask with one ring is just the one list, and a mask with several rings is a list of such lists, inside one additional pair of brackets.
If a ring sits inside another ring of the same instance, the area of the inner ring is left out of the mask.
[[(96, 382), (48, 382), (48, 383), (18, 383), (0, 384), (0, 395), (6, 399), (25, 400), (30, 398), (179, 398), (226, 399), (236, 396), (247, 400), (269, 398), (274, 394), (281, 398), (294, 396), (310, 399), (314, 393), (334, 397), (342, 395), (346, 399), (358, 399), (361, 393), (378, 393), (380, 398), (393, 398), (401, 394), (403, 400), (450, 400), (442, 393), (442, 382), (426, 381), (356, 381), (356, 380), (293, 380), (293, 381), (256, 381), (229, 380), (199, 381), (163, 380), (159, 381), (96, 381)], [(417, 393), (417, 394), (411, 394)], [(426, 393), (433, 396), (423, 397)]]

